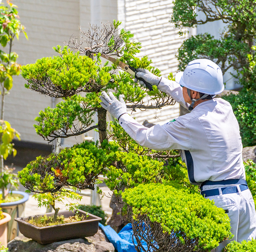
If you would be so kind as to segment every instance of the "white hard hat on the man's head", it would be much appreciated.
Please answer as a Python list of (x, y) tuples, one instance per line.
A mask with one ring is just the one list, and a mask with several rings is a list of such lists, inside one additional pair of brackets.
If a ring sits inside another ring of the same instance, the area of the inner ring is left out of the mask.
[(190, 61), (184, 72), (178, 72), (175, 81), (180, 85), (204, 94), (216, 95), (224, 90), (220, 67), (209, 59)]

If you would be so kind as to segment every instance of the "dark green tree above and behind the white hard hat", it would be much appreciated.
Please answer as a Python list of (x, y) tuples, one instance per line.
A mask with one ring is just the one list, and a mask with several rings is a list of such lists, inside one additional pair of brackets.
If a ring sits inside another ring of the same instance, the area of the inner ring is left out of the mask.
[[(184, 41), (178, 54), (179, 69), (184, 69), (189, 61), (202, 57), (220, 64), (223, 73), (231, 67), (238, 72), (248, 69), (247, 55), (253, 53), (252, 45), (256, 37), (255, 6), (254, 0), (175, 0), (171, 22), (177, 28), (196, 27), (218, 20), (226, 25), (220, 39), (205, 33)], [(250, 78), (250, 73), (243, 72), (243, 77)], [(248, 86), (255, 90), (253, 83), (248, 83)]]

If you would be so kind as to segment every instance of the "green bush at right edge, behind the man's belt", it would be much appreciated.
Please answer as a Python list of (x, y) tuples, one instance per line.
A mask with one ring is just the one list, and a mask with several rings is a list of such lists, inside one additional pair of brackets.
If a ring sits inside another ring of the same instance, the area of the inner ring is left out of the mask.
[(248, 160), (244, 162), (244, 168), (246, 181), (256, 206), (256, 164), (252, 160)]

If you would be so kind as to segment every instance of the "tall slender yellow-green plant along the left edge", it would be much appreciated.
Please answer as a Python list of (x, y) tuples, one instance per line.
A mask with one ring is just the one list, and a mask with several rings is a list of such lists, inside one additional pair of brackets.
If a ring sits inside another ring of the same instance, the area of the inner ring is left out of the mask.
[(16, 62), (18, 55), (13, 52), (12, 45), (15, 38), (23, 33), (26, 37), (25, 27), (18, 19), (17, 6), (7, 1), (7, 6), (0, 5), (0, 43), (4, 50), (0, 50), (0, 85), (1, 85), (1, 114), (0, 114), (0, 189), (2, 199), (5, 199), (6, 189), (9, 186), (17, 188), (16, 175), (12, 169), (4, 166), (4, 159), (8, 155), (16, 155), (16, 150), (11, 143), (14, 137), (20, 140), (19, 133), (11, 128), (10, 123), (4, 121), (5, 96), (12, 88), (12, 76), (19, 75), (20, 65)]

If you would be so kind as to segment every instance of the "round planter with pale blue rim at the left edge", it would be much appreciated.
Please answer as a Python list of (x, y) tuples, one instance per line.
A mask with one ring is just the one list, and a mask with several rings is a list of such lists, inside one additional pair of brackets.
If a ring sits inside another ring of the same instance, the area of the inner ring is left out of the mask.
[[(2, 191), (0, 191), (2, 193)], [(12, 194), (23, 197), (13, 202), (1, 203), (0, 207), (3, 212), (11, 215), (11, 221), (7, 224), (7, 241), (13, 240), (18, 235), (18, 223), (14, 221), (16, 217), (24, 216), (25, 202), (28, 201), (28, 193), (21, 191), (12, 191)]]

